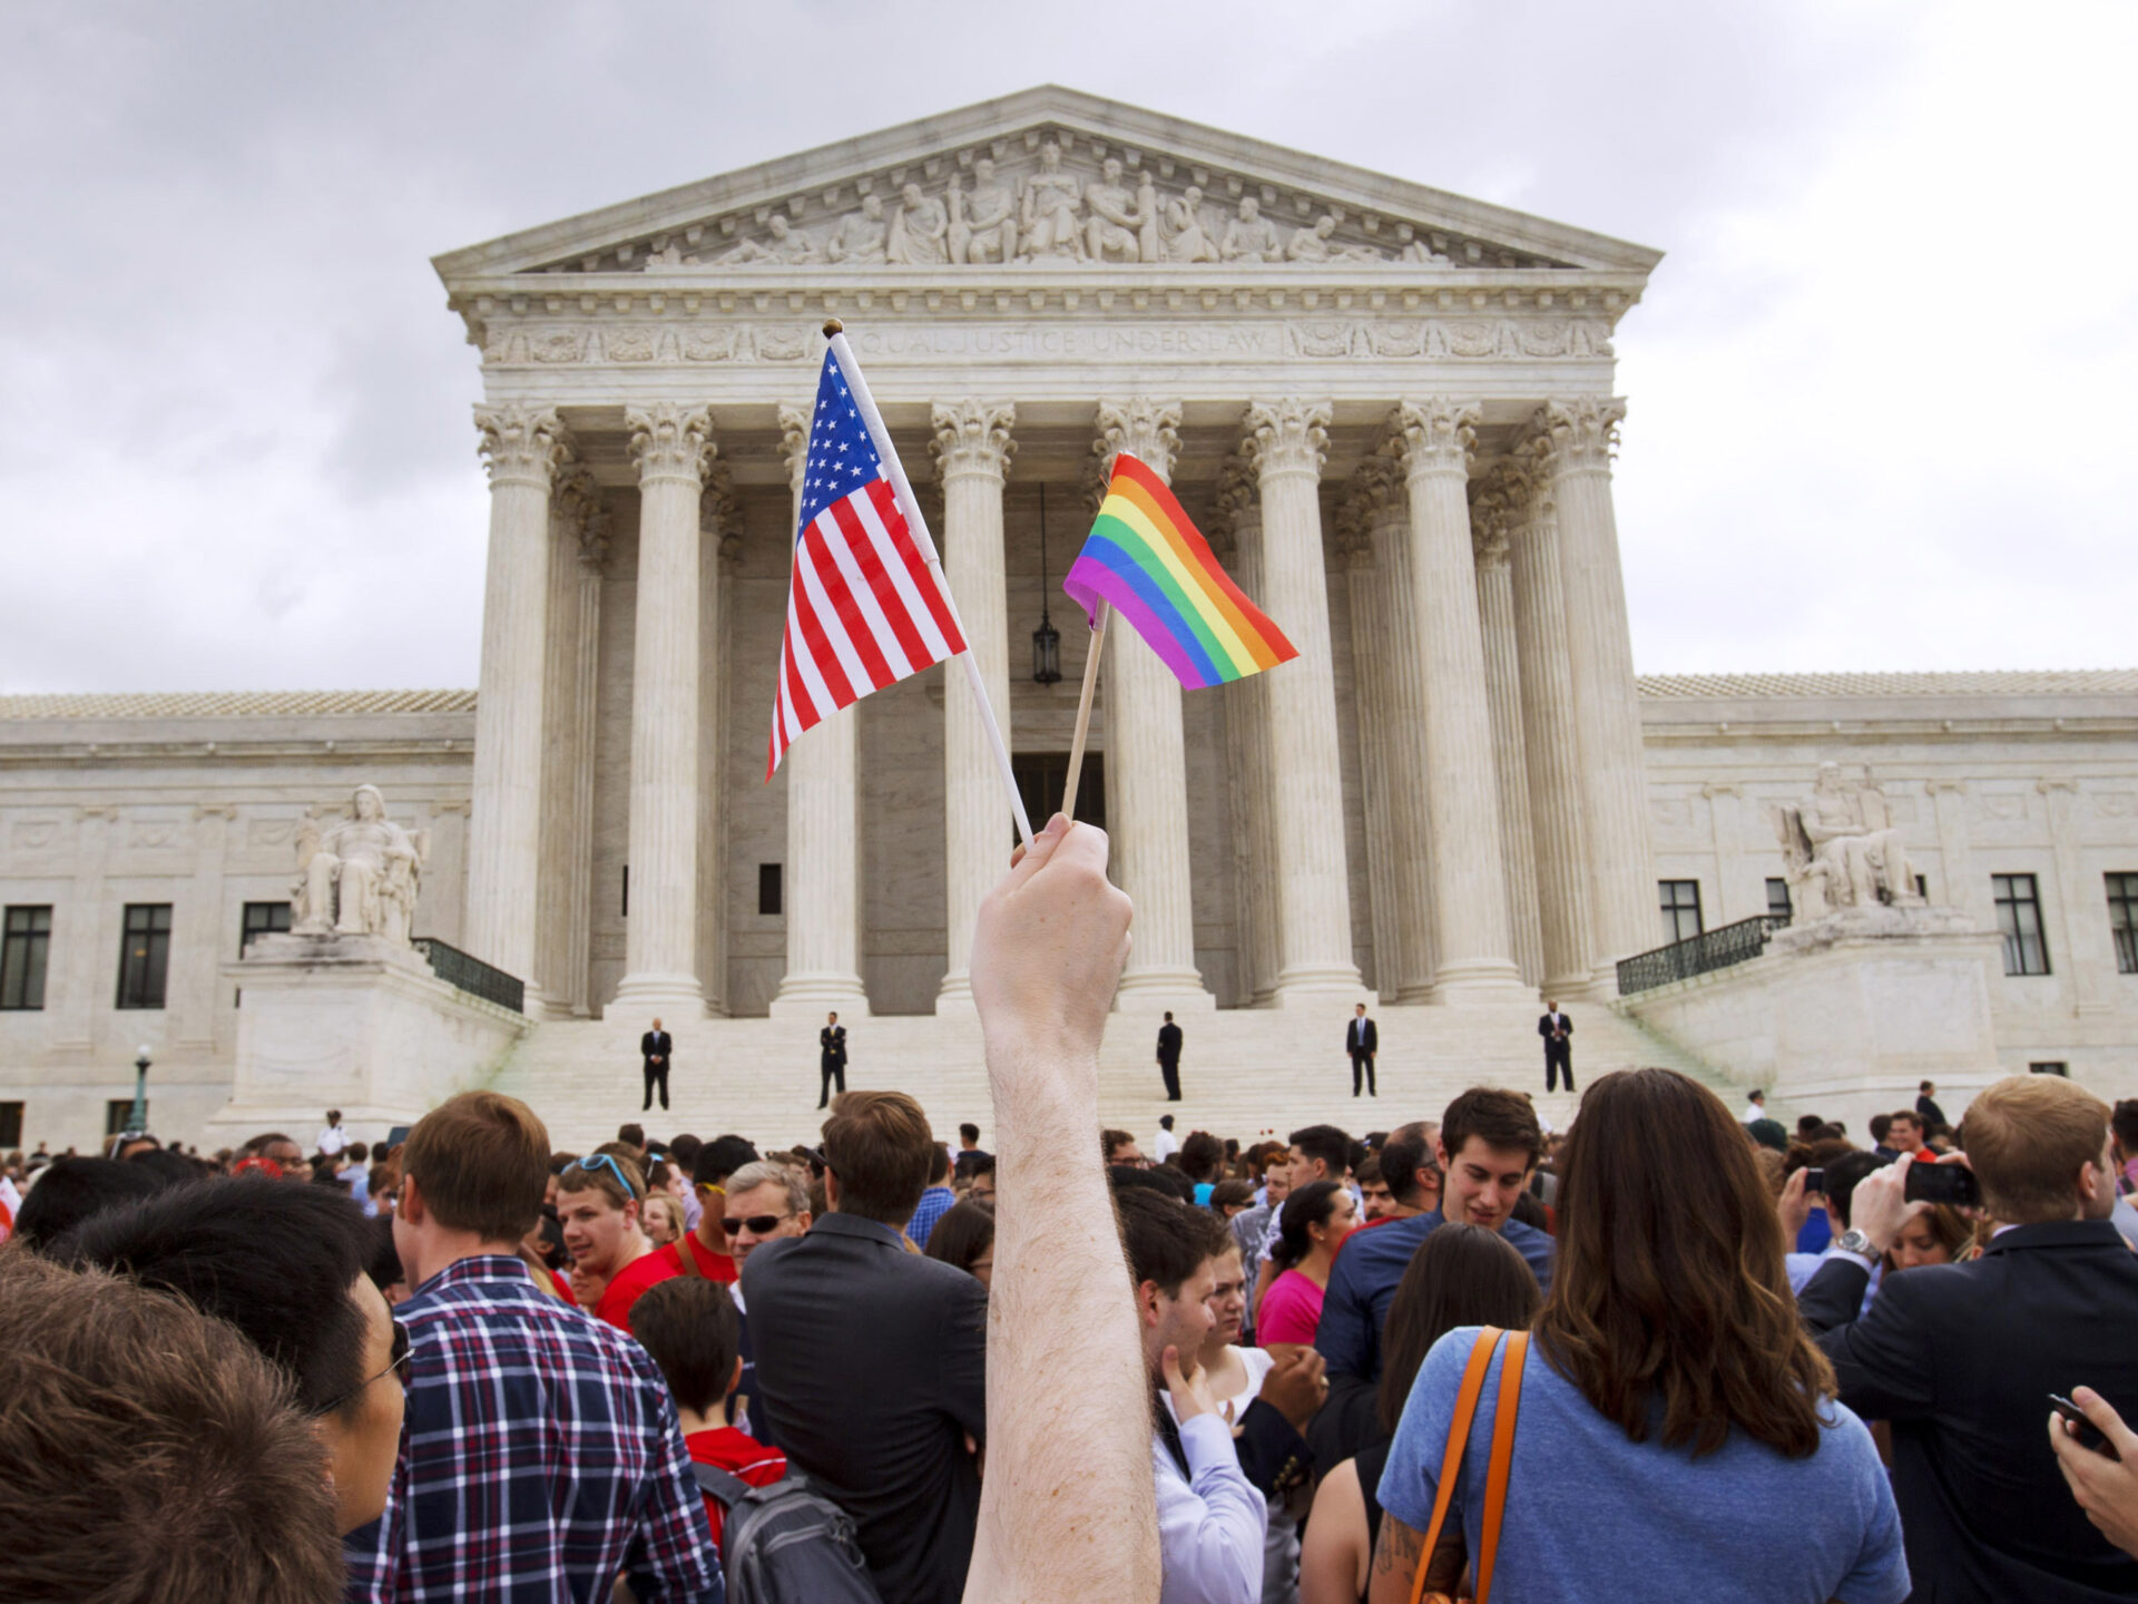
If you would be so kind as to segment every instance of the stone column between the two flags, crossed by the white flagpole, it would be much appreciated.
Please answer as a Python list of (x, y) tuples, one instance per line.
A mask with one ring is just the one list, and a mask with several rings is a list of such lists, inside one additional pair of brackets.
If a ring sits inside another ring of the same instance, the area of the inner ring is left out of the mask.
[[(1003, 560), (1003, 479), (1016, 443), (1009, 402), (936, 402), (936, 479), (943, 483), (943, 573), (964, 639), (1003, 727), (1009, 727), (1009, 590)], [(936, 1012), (973, 1007), (973, 924), (1009, 862), (1009, 811), (994, 746), (964, 676), (943, 676), (943, 881), (949, 969)]]

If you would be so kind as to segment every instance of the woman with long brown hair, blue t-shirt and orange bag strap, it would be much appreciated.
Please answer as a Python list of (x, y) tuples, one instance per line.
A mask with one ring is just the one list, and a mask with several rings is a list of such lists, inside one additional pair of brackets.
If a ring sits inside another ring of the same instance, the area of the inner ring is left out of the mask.
[[(1905, 1600), (1892, 1489), (1798, 1324), (1781, 1221), (1730, 1110), (1672, 1069), (1604, 1076), (1559, 1174), (1559, 1260), (1520, 1375), (1494, 1591)], [(1405, 1403), (1373, 1604), (1411, 1598), (1475, 1337), (1447, 1332)], [(1503, 1367), (1505, 1349), (1454, 1489), (1450, 1527), (1471, 1555)], [(1454, 1591), (1460, 1566), (1447, 1570)]]

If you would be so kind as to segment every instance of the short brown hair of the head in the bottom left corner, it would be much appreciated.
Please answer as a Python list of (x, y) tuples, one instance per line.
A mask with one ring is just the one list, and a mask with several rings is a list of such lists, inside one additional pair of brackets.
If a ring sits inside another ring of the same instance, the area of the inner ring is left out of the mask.
[(342, 1598), (327, 1448), (235, 1330), (0, 1253), (0, 1349), (11, 1598)]

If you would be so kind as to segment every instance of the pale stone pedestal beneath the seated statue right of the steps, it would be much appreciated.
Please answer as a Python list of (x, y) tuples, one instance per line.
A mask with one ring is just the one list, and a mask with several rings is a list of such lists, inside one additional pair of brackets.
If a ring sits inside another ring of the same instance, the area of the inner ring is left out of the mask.
[[(1785, 1125), (1815, 1112), (1869, 1144), (1873, 1114), (1937, 1082), (1950, 1119), (2003, 1078), (1990, 1022), (1999, 937), (1958, 909), (1845, 909), (1779, 930), (1751, 962), (1636, 992), (1642, 1024), (1747, 1091)], [(1736, 1110), (1732, 1110), (1736, 1112)]]

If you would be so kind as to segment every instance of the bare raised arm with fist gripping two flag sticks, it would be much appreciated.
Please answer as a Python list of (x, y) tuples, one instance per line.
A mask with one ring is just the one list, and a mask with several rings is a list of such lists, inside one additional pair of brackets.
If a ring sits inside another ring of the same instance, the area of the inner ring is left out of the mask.
[(1129, 956), (1129, 898), (1105, 853), (1105, 832), (1056, 815), (973, 932), (998, 1200), (969, 1604), (1159, 1598), (1150, 1384), (1090, 1142), (1099, 1037)]

